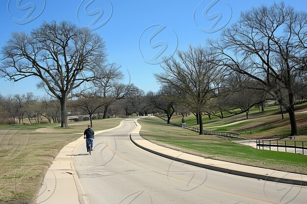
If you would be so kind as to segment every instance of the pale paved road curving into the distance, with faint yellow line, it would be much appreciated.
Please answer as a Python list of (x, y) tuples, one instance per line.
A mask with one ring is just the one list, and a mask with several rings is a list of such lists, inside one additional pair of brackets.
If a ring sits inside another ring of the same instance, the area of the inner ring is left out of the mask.
[(87, 204), (303, 204), (307, 188), (228, 175), (165, 159), (129, 141), (134, 119), (76, 148), (79, 197)]

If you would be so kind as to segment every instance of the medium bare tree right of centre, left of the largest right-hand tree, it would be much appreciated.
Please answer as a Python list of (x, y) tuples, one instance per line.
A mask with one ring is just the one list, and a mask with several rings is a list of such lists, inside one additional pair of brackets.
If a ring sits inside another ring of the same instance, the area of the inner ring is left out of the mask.
[(165, 58), (161, 66), (164, 73), (155, 74), (155, 77), (162, 86), (174, 88), (179, 95), (184, 95), (179, 102), (188, 104), (198, 114), (200, 135), (203, 135), (205, 103), (216, 97), (223, 80), (222, 71), (216, 66), (219, 59), (201, 46), (190, 45), (187, 51), (177, 54), (179, 59)]

